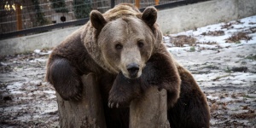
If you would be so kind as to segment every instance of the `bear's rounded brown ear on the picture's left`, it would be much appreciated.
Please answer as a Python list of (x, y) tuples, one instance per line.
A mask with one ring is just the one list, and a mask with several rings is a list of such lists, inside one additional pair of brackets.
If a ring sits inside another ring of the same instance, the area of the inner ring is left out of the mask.
[(94, 28), (96, 28), (96, 30), (101, 31), (107, 21), (104, 19), (102, 13), (97, 10), (92, 10), (90, 12), (90, 23)]

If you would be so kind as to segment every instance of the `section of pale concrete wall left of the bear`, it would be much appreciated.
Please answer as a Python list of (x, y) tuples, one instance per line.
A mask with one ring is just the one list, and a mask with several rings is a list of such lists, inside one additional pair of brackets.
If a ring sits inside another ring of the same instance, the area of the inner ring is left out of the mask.
[(75, 26), (31, 36), (0, 40), (0, 55), (11, 55), (29, 52), (35, 49), (53, 48), (67, 38), (69, 34), (79, 29), (79, 27)]

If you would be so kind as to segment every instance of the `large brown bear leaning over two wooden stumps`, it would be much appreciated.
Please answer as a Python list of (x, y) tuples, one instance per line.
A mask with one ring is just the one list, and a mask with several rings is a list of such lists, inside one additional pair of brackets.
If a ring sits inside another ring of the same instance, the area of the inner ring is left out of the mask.
[(171, 127), (209, 127), (207, 100), (192, 75), (172, 59), (155, 23), (157, 11), (141, 13), (119, 4), (90, 21), (49, 55), (46, 79), (64, 100), (81, 98), (81, 75), (96, 73), (108, 127), (129, 127), (129, 104), (149, 86), (167, 90)]

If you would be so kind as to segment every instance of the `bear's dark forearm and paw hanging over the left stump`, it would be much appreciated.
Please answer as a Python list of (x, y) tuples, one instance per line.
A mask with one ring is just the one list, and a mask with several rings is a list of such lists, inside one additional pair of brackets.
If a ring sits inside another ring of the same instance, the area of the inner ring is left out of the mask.
[(64, 58), (55, 58), (47, 67), (46, 79), (66, 101), (79, 101), (82, 97), (82, 81), (76, 67)]

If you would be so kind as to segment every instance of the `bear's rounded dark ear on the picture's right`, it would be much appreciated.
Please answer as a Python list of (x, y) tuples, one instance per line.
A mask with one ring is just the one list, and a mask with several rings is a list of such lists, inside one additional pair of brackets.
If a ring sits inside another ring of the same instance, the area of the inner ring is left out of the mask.
[(154, 26), (157, 19), (157, 10), (154, 7), (148, 7), (143, 11), (143, 21), (149, 26)]

